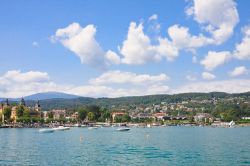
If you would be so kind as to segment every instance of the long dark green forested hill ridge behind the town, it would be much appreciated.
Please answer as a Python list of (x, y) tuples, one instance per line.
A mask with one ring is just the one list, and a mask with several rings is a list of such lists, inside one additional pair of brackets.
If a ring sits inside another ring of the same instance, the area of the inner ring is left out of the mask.
[[(175, 95), (149, 95), (149, 96), (134, 96), (134, 97), (119, 97), (119, 98), (88, 98), (79, 97), (73, 99), (47, 99), (41, 100), (40, 104), (43, 110), (51, 109), (74, 109), (84, 105), (98, 105), (104, 107), (111, 106), (129, 106), (140, 104), (159, 104), (161, 102), (178, 103), (190, 100), (210, 100), (210, 99), (227, 99), (233, 97), (248, 98), (250, 100), (250, 92), (228, 94), (222, 92), (211, 93), (183, 93)], [(33, 106), (36, 101), (28, 100), (26, 103)]]

